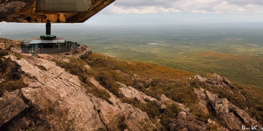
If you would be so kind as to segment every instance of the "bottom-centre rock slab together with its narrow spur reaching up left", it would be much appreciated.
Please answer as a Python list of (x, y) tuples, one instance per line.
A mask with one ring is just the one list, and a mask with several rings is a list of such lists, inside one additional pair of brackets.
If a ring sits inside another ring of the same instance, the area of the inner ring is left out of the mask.
[[(103, 89), (110, 94), (110, 99), (113, 105), (106, 104), (108, 102), (102, 100), (97, 101), (98, 108), (96, 110), (100, 111), (100, 118), (106, 124), (109, 130), (116, 130), (116, 126), (119, 126), (119, 123), (115, 125), (116, 121), (119, 121), (119, 117), (122, 117), (124, 124), (127, 125), (129, 130), (144, 130), (143, 127), (147, 127), (148, 130), (156, 130), (156, 126), (149, 119), (146, 112), (142, 112), (138, 108), (134, 108), (132, 105), (127, 103), (122, 103), (116, 96), (114, 96), (111, 92), (105, 89), (103, 86), (99, 84), (93, 77), (90, 78), (90, 82), (93, 83), (97, 88)], [(128, 88), (128, 87), (127, 87)], [(94, 103), (95, 107), (96, 104)]]

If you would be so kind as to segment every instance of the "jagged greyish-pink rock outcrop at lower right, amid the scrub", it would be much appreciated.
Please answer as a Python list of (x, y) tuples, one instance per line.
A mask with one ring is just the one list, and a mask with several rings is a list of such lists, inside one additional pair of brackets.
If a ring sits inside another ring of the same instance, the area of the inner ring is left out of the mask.
[[(205, 83), (203, 80), (205, 80)], [(200, 86), (205, 88), (217, 88), (219, 90), (224, 88), (230, 90), (230, 92), (233, 92), (232, 89), (235, 88), (233, 83), (217, 74), (214, 74), (213, 78), (209, 79), (196, 75), (193, 80), (189, 79), (189, 83), (199, 88)], [(208, 106), (214, 109), (219, 121), (223, 121), (229, 130), (241, 130), (241, 125), (258, 125), (259, 127), (262, 127), (261, 124), (254, 118), (250, 117), (246, 111), (236, 107), (226, 98), (221, 99), (218, 94), (212, 94), (208, 90), (206, 90), (206, 92), (203, 91), (204, 90), (201, 90), (201, 88), (200, 90), (194, 88), (194, 92), (200, 101), (199, 104), (205, 108), (204, 111), (207, 110), (206, 107)], [(244, 100), (246, 99), (240, 92), (238, 93), (244, 98)], [(227, 129), (220, 127), (220, 130)]]

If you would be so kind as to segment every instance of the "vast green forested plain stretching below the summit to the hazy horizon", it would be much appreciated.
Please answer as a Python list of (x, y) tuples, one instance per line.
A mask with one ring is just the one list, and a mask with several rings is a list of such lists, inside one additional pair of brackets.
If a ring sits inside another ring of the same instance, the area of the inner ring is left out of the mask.
[[(52, 34), (89, 45), (115, 59), (143, 61), (186, 70), (193, 75), (217, 73), (236, 84), (263, 85), (263, 26), (257, 24), (52, 26)], [(14, 28), (0, 37), (25, 40), (44, 28)]]

